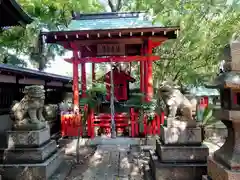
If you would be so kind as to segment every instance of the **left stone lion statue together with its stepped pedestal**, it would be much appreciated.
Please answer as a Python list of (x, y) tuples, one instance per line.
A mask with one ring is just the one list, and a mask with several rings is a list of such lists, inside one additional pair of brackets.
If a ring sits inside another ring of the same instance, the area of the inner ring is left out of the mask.
[(13, 130), (8, 131), (8, 148), (2, 150), (3, 178), (10, 180), (47, 180), (63, 162), (63, 151), (50, 139), (42, 115), (43, 86), (27, 86), (25, 96), (11, 110)]

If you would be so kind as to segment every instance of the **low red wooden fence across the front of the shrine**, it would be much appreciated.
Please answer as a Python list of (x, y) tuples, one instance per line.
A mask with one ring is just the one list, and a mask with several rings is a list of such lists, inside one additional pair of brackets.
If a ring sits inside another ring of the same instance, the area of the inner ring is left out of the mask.
[[(84, 108), (84, 111), (87, 109)], [(80, 136), (83, 135), (83, 125), (82, 116), (75, 115), (73, 113), (62, 113), (61, 114), (61, 132), (62, 136), (78, 136), (78, 131), (80, 131)], [(94, 115), (94, 111), (90, 110), (87, 116), (87, 135), (88, 137), (95, 137), (95, 127), (100, 127), (105, 130), (106, 133), (111, 131), (111, 115), (110, 114), (98, 114)], [(153, 120), (148, 121), (147, 115), (143, 118), (143, 135), (157, 135), (160, 134), (161, 124), (164, 123), (164, 114), (154, 115)], [(130, 137), (138, 137), (140, 135), (140, 121), (139, 112), (134, 111), (133, 108), (130, 109), (130, 113), (115, 113), (114, 116), (116, 130), (123, 131), (125, 128), (129, 128), (131, 133)]]

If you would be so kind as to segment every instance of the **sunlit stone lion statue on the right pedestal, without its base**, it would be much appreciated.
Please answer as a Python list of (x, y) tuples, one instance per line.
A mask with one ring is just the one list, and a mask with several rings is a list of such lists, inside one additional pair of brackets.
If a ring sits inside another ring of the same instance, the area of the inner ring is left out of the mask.
[[(167, 107), (168, 119), (187, 121), (189, 126), (195, 126), (193, 110), (196, 103), (192, 103), (178, 88), (171, 82), (163, 82), (158, 90), (158, 97), (164, 101)], [(180, 117), (177, 117), (178, 112)]]

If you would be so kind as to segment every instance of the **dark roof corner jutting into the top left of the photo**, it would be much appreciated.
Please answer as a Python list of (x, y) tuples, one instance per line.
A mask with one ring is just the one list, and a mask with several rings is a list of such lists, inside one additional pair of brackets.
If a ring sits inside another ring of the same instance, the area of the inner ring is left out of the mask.
[(0, 0), (0, 27), (26, 25), (32, 21), (15, 0)]

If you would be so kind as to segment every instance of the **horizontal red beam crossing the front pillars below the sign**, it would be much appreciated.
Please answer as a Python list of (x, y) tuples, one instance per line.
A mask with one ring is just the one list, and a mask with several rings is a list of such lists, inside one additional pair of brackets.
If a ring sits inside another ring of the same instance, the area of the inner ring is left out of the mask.
[[(132, 61), (157, 61), (159, 56), (115, 56), (115, 57), (89, 57), (89, 58), (78, 58), (78, 64), (81, 63), (103, 63), (103, 62), (132, 62)], [(64, 59), (66, 62), (72, 63), (72, 58)]]

